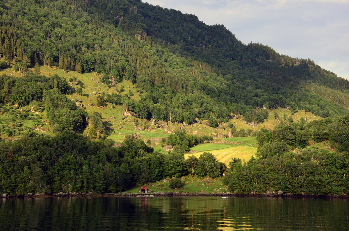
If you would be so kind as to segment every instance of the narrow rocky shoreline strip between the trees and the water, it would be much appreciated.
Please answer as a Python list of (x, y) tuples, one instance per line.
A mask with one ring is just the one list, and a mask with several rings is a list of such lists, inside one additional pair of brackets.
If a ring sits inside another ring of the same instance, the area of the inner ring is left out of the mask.
[(157, 192), (157, 193), (107, 193), (107, 194), (98, 194), (98, 193), (54, 193), (54, 194), (35, 194), (35, 195), (2, 195), (0, 196), (2, 199), (10, 199), (10, 198), (69, 198), (69, 197), (86, 197), (86, 196), (94, 196), (94, 197), (103, 197), (103, 196), (115, 196), (115, 197), (153, 197), (153, 196), (161, 196), (161, 197), (173, 197), (173, 196), (213, 196), (213, 197), (231, 197), (231, 198), (341, 198), (348, 199), (349, 195), (341, 194), (341, 195), (307, 195), (307, 194), (237, 194), (237, 193), (179, 193), (179, 192)]

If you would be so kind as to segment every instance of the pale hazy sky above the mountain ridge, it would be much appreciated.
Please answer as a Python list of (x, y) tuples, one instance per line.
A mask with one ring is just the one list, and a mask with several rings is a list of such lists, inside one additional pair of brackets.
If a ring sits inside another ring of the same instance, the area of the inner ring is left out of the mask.
[(349, 0), (142, 0), (223, 24), (244, 44), (314, 60), (349, 79)]

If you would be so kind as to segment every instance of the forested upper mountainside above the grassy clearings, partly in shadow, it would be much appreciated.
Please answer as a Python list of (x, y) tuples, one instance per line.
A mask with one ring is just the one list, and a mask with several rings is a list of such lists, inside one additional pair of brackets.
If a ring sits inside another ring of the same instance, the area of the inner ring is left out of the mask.
[[(127, 102), (144, 119), (227, 121), (230, 112), (292, 107), (321, 117), (343, 113), (349, 82), (310, 59), (290, 58), (261, 44), (242, 44), (222, 25), (140, 1), (2, 1), (2, 67), (55, 65), (130, 80), (146, 92)], [(314, 93), (315, 92), (315, 93)], [(325, 96), (325, 97), (324, 97)], [(124, 104), (117, 95), (106, 102)], [(14, 103), (7, 98), (3, 103)], [(140, 103), (140, 104), (138, 104)], [(257, 120), (257, 117), (252, 118)]]

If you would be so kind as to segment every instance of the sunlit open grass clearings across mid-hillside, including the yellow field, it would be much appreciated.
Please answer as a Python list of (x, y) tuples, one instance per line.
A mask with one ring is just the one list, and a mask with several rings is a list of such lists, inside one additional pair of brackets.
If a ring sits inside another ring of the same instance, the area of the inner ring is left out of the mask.
[[(7, 74), (7, 75), (13, 75), (13, 76), (23, 76), (22, 73), (16, 72), (13, 68), (7, 68), (5, 70), (0, 71), (1, 74)], [(83, 93), (82, 95), (78, 95), (76, 93), (72, 95), (68, 95), (67, 97), (76, 100), (80, 99), (82, 101), (83, 106), (85, 107), (85, 110), (88, 113), (97, 111), (102, 114), (103, 121), (105, 119), (109, 119), (108, 127), (109, 131), (107, 131), (108, 137), (116, 142), (122, 142), (124, 139), (124, 135), (131, 135), (136, 132), (140, 132), (141, 139), (144, 141), (147, 141), (150, 139), (152, 141), (152, 146), (155, 148), (156, 151), (161, 151), (163, 153), (166, 153), (164, 151), (164, 148), (160, 147), (160, 140), (163, 137), (167, 137), (169, 134), (168, 132), (173, 132), (175, 129), (178, 129), (180, 126), (183, 126), (181, 124), (173, 124), (169, 123), (168, 126), (166, 126), (163, 129), (154, 129), (154, 131), (138, 131), (135, 129), (135, 126), (133, 125), (134, 118), (128, 117), (125, 120), (122, 120), (122, 113), (124, 110), (121, 106), (114, 106), (111, 104), (108, 104), (105, 107), (99, 108), (95, 105), (97, 104), (97, 94), (94, 94), (93, 92), (106, 92), (106, 93), (112, 93), (115, 92), (117, 89), (120, 89), (121, 86), (124, 86), (125, 91), (122, 92), (122, 94), (128, 94), (128, 91), (131, 90), (134, 96), (131, 98), (134, 100), (140, 99), (141, 94), (138, 93), (138, 89), (129, 81), (122, 81), (121, 83), (115, 84), (114, 87), (108, 88), (106, 84), (102, 84), (100, 82), (100, 77), (96, 72), (91, 73), (84, 73), (80, 74), (75, 71), (69, 71), (67, 73), (64, 72), (64, 70), (59, 69), (57, 67), (47, 67), (47, 66), (41, 66), (41, 74), (46, 76), (51, 76), (53, 74), (57, 74), (59, 76), (64, 77), (67, 81), (71, 77), (76, 77), (77, 80), (81, 80), (83, 82)], [(98, 82), (97, 82), (98, 81)], [(77, 88), (79, 85), (75, 85), (76, 83), (71, 83), (73, 87)], [(94, 106), (89, 106), (94, 105)], [(13, 105), (9, 105), (9, 107), (13, 108)], [(13, 108), (14, 109), (14, 108)], [(30, 107), (24, 107), (24, 110), (29, 110)], [(245, 124), (244, 117), (241, 115), (238, 115), (237, 118), (231, 119), (232, 124), (235, 125), (237, 130), (248, 129), (251, 128), (253, 130), (260, 129), (260, 128), (273, 128), (275, 127), (279, 121), (274, 120), (273, 114), (274, 111), (276, 111), (279, 114), (280, 119), (283, 118), (283, 114), (287, 114), (288, 116), (292, 116), (295, 121), (299, 121), (301, 117), (308, 118), (308, 121), (319, 119), (319, 117), (315, 117), (313, 114), (305, 111), (299, 111), (292, 115), (291, 111), (284, 108), (279, 108), (275, 110), (269, 110), (269, 117), (268, 120), (266, 120), (263, 123), (260, 123), (257, 125), (257, 127), (251, 127), (247, 124)], [(30, 111), (28, 112), (30, 115), (32, 114)], [(32, 116), (40, 117), (39, 119), (39, 125), (36, 125), (37, 122), (33, 122), (32, 120), (24, 120), (22, 121), (24, 125), (27, 125), (29, 127), (43, 127), (47, 131), (49, 131), (49, 125), (47, 124), (47, 119), (45, 116), (45, 112), (40, 113), (38, 115), (33, 114)], [(2, 119), (4, 124), (9, 124), (11, 121), (8, 119), (9, 117), (6, 117), (6, 113), (4, 115), (0, 115), (0, 119)], [(144, 124), (147, 124), (148, 126), (151, 126), (150, 122), (146, 120), (138, 119), (139, 126), (143, 126)], [(223, 124), (223, 126), (227, 127), (227, 123)], [(122, 128), (121, 128), (122, 127)], [(190, 134), (192, 131), (197, 132), (198, 135), (210, 135), (210, 134), (217, 134), (220, 133), (221, 135), (227, 134), (227, 130), (218, 130), (215, 128), (211, 128), (209, 126), (203, 125), (203, 124), (194, 124), (194, 125), (185, 125), (185, 129)], [(50, 133), (50, 132), (48, 132)], [(120, 133), (120, 135), (119, 135)], [(250, 140), (249, 140), (250, 139)], [(217, 143), (218, 141), (218, 143)], [(226, 144), (223, 144), (222, 142), (227, 142)], [(231, 142), (243, 142), (240, 143), (239, 146), (243, 146), (245, 148), (237, 148), (236, 144), (232, 144)], [(225, 139), (215, 139), (215, 144), (203, 144), (203, 146), (196, 146), (192, 150), (195, 151), (215, 151), (217, 155), (219, 154), (219, 159), (225, 160), (227, 159), (227, 156), (230, 158), (230, 156), (239, 157), (242, 159), (249, 159), (254, 153), (255, 149), (252, 147), (256, 147), (255, 138), (251, 137), (236, 137), (236, 138), (225, 138)], [(228, 145), (228, 146), (226, 146)], [(223, 150), (224, 149), (224, 150)], [(200, 155), (200, 153), (196, 153), (195, 155)]]

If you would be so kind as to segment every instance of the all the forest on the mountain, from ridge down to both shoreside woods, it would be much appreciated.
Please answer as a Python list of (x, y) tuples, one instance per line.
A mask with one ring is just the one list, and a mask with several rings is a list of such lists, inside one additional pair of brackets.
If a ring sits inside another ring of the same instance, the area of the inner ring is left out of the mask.
[[(112, 80), (130, 81), (139, 100), (115, 89), (96, 96), (96, 106), (122, 105), (144, 120), (208, 120), (218, 127), (231, 113), (247, 123), (263, 122), (267, 109), (278, 107), (323, 119), (294, 122), (284, 115), (274, 129), (259, 131), (236, 131), (228, 124), (233, 136), (257, 136), (259, 145), (257, 158), (233, 159), (228, 167), (209, 152), (184, 159), (190, 147), (213, 140), (185, 130), (163, 139), (174, 147), (166, 155), (132, 136), (114, 147), (105, 137), (91, 140), (103, 129), (101, 115), (88, 114), (69, 99), (82, 93), (84, 83), (76, 81), (75, 89), (58, 75), (44, 76), (42, 65), (97, 72), (110, 88)], [(114, 193), (166, 177), (223, 172), (236, 193), (349, 193), (349, 81), (310, 59), (244, 45), (223, 25), (209, 26), (194, 15), (139, 0), (3, 0), (0, 69), (7, 68), (21, 77), (0, 76), (0, 113), (6, 105), (44, 112), (54, 136), (22, 127), (22, 119), (42, 123), (25, 111), (8, 113), (11, 125), (0, 119), (1, 134), (21, 136), (0, 142), (1, 193)], [(330, 150), (308, 147), (324, 140)]]

